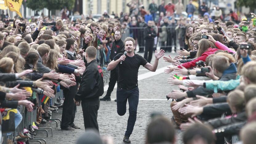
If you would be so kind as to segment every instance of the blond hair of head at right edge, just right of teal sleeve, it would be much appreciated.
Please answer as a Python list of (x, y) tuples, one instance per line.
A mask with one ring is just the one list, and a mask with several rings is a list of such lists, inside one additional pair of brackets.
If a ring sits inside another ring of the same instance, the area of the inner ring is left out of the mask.
[(256, 84), (256, 62), (247, 62), (242, 67), (242, 75), (250, 80), (250, 82)]

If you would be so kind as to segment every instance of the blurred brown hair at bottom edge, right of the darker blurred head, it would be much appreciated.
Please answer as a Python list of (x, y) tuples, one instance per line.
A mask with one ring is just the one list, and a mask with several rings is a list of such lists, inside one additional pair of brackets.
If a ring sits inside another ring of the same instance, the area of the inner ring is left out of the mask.
[(190, 142), (202, 139), (207, 144), (215, 143), (215, 137), (212, 133), (211, 128), (203, 124), (194, 124), (190, 126), (183, 134), (184, 144), (189, 144)]

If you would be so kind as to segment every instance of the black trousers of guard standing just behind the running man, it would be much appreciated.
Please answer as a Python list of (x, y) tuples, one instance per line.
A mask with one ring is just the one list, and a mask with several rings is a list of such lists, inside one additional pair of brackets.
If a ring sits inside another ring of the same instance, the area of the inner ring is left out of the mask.
[(114, 90), (115, 84), (118, 80), (118, 66), (110, 71), (110, 79), (108, 83), (108, 90), (105, 97), (110, 97), (112, 91)]

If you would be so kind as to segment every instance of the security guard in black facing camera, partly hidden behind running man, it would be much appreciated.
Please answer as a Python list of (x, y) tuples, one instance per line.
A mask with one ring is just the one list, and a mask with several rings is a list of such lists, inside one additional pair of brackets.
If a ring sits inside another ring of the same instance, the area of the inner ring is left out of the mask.
[[(117, 54), (124, 53), (124, 51), (125, 51), (124, 50), (124, 42), (121, 40), (122, 32), (119, 30), (116, 30), (114, 37), (115, 37), (115, 41), (112, 44), (111, 53), (110, 53), (111, 61), (114, 59), (114, 57)], [(112, 91), (114, 90), (117, 80), (118, 80), (118, 66), (114, 70), (110, 71), (110, 80), (108, 83), (107, 94), (105, 95), (105, 97), (100, 98), (101, 101), (110, 101), (111, 100), (110, 95), (111, 95)]]

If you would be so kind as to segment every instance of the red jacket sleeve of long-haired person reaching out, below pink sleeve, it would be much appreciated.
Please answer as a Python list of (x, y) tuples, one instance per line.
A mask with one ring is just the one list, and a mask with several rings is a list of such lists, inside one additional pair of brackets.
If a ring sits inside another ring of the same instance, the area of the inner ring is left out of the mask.
[[(211, 54), (214, 54), (215, 51), (217, 51), (219, 49), (213, 49), (213, 48), (208, 48), (203, 54), (201, 57), (198, 57), (197, 59), (191, 61), (191, 62), (186, 62), (186, 63), (183, 63), (181, 64), (182, 66), (184, 66), (186, 69), (188, 68), (191, 68), (191, 67), (194, 67), (196, 66), (196, 62), (198, 61), (204, 61), (205, 62), (205, 59), (211, 55)], [(178, 68), (182, 68), (180, 65), (178, 66)]]

